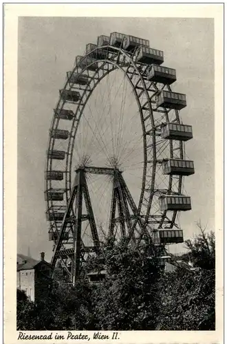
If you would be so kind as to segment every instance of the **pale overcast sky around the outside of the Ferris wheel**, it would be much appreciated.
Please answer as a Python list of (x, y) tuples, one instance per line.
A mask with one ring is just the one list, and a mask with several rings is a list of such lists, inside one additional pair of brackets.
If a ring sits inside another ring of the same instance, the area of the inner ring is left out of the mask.
[[(213, 19), (47, 18), (19, 19), (18, 65), (18, 252), (52, 256), (45, 219), (44, 171), (52, 109), (65, 74), (76, 55), (97, 36), (122, 32), (149, 39), (164, 51), (164, 65), (177, 69), (175, 92), (185, 93), (181, 111), (193, 125), (186, 155), (195, 162), (195, 175), (185, 178), (193, 210), (182, 213), (184, 239), (197, 232), (195, 223), (214, 229), (214, 32)], [(178, 246), (177, 250), (181, 250)]]

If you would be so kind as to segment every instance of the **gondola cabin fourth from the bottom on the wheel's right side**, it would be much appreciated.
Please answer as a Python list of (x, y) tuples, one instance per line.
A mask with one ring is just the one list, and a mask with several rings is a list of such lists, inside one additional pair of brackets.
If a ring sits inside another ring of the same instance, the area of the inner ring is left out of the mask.
[(162, 125), (161, 136), (169, 140), (188, 141), (193, 138), (193, 127), (191, 125), (167, 123)]

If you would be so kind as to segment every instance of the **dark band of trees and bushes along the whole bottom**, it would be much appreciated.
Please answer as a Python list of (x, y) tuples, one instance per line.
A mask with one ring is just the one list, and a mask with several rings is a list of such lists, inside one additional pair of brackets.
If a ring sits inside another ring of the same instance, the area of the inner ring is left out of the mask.
[[(215, 235), (201, 228), (186, 246), (199, 269), (164, 272), (157, 246), (109, 241), (75, 287), (56, 281), (38, 303), (17, 290), (17, 330), (215, 330)], [(105, 281), (89, 283), (103, 268)]]

